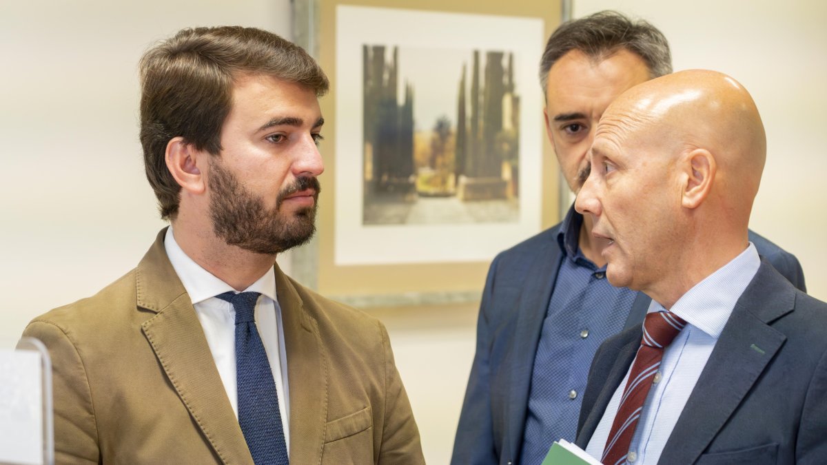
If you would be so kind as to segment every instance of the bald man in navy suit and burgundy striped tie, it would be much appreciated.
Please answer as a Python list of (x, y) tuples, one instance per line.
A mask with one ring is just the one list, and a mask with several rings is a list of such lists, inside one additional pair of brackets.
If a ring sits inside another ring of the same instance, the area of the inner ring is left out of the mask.
[(575, 206), (609, 283), (652, 297), (591, 366), (577, 443), (603, 463), (827, 463), (827, 304), (748, 241), (765, 158), (753, 99), (714, 71), (600, 119)]

